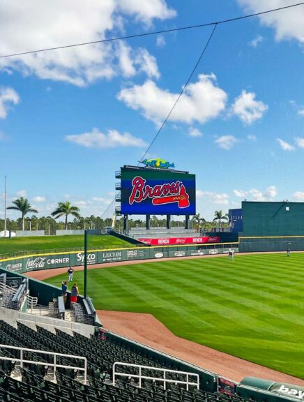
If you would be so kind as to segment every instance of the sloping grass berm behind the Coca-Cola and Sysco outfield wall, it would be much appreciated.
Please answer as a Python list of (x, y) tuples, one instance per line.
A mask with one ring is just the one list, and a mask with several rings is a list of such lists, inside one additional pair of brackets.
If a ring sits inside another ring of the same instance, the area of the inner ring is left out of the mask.
[[(12, 239), (0, 239), (0, 254), (15, 253), (17, 251), (51, 250), (54, 248), (83, 248), (84, 236), (37, 236), (37, 237), (13, 237)], [(130, 246), (128, 241), (114, 236), (88, 237), (89, 248), (114, 248)]]

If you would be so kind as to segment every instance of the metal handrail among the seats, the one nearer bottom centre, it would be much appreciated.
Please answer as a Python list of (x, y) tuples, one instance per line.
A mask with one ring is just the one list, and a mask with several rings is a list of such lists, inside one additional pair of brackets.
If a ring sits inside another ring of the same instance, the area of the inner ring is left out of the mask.
[[(131, 374), (131, 373), (117, 373), (115, 371), (116, 366), (127, 366), (127, 367), (138, 367), (139, 374)], [(142, 375), (142, 368), (153, 370), (153, 371), (161, 371), (163, 373), (163, 378), (158, 377), (151, 377), (149, 375)], [(186, 376), (185, 381), (181, 380), (169, 380), (166, 378), (166, 373), (176, 373), (176, 374), (184, 374)], [(166, 389), (167, 382), (173, 382), (174, 384), (185, 384), (187, 391), (189, 390), (189, 385), (194, 385), (199, 389), (199, 375), (197, 373), (189, 373), (188, 371), (178, 371), (178, 370), (170, 370), (169, 368), (159, 368), (159, 367), (152, 367), (152, 366), (142, 366), (141, 364), (132, 364), (132, 363), (123, 363), (123, 362), (115, 362), (113, 364), (113, 385), (115, 387), (116, 384), (116, 376), (121, 377), (128, 377), (128, 378), (139, 378), (139, 388), (142, 388), (142, 379), (144, 380), (154, 380), (163, 382), (164, 389)], [(197, 382), (190, 382), (189, 376), (193, 375), (197, 378)]]

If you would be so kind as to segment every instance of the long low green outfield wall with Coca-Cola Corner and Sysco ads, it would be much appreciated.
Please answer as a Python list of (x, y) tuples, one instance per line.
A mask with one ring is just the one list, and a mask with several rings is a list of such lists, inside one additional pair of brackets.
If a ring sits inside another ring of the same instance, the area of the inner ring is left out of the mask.
[[(107, 262), (161, 260), (162, 258), (216, 255), (228, 253), (229, 248), (238, 252), (238, 243), (202, 244), (188, 246), (157, 246), (140, 248), (116, 248), (112, 250), (88, 251), (88, 264), (105, 264)], [(0, 268), (21, 274), (26, 271), (77, 267), (84, 265), (84, 251), (60, 253), (29, 254), (0, 260)]]

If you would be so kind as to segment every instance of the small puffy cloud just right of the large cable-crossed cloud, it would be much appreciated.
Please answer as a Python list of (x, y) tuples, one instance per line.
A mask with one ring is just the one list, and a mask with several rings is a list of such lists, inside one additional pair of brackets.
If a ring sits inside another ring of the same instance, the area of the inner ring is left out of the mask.
[(261, 119), (268, 106), (261, 101), (255, 101), (254, 92), (242, 91), (241, 95), (234, 100), (232, 113), (241, 119), (245, 124), (252, 124)]

